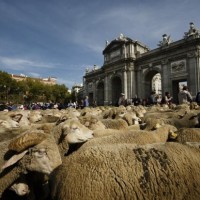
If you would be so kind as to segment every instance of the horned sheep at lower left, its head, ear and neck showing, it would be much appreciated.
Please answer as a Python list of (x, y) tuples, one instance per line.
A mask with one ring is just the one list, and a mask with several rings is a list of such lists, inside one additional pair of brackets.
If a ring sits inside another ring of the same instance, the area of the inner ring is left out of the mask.
[(61, 156), (51, 134), (33, 130), (0, 143), (0, 197), (21, 174), (50, 174), (61, 165)]

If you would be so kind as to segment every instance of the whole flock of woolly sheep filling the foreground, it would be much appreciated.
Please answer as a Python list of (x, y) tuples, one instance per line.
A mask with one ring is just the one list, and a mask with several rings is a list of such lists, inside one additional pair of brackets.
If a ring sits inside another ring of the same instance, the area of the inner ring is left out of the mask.
[(0, 112), (1, 200), (200, 199), (200, 106)]

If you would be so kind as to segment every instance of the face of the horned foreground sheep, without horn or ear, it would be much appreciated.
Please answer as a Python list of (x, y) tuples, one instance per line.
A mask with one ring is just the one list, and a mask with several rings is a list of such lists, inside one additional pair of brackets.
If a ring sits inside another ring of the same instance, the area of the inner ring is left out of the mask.
[(56, 167), (62, 164), (58, 147), (52, 138), (47, 138), (33, 148), (29, 149), (31, 162), (27, 163), (26, 169), (50, 174)]

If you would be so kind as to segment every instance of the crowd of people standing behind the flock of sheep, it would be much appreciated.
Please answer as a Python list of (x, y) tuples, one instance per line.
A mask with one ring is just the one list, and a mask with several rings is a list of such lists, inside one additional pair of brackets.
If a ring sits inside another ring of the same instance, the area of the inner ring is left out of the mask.
[[(196, 94), (196, 97), (193, 98), (192, 95), (190, 94), (190, 92), (188, 91), (188, 87), (187, 86), (183, 86), (182, 90), (178, 93), (178, 103), (182, 104), (182, 103), (190, 103), (192, 101), (195, 101), (198, 103), (198, 105), (200, 105), (200, 92), (198, 92)], [(155, 104), (166, 104), (169, 106), (169, 108), (171, 107), (173, 102), (173, 97), (171, 96), (171, 94), (169, 92), (165, 92), (164, 96), (161, 96), (159, 94), (156, 94), (155, 91), (152, 91), (151, 94), (149, 95), (148, 98), (146, 99), (142, 99), (139, 98), (137, 96), (137, 94), (129, 101), (127, 101), (127, 99), (125, 98), (125, 94), (121, 93), (119, 100), (117, 102), (117, 106), (120, 105), (143, 105), (143, 106), (151, 106), (151, 105), (155, 105)], [(16, 109), (22, 109), (22, 110), (37, 110), (37, 109), (42, 109), (42, 110), (46, 110), (46, 109), (65, 109), (65, 108), (84, 108), (84, 107), (89, 107), (89, 106), (93, 106), (96, 107), (96, 101), (94, 101), (91, 105), (89, 103), (89, 97), (85, 96), (84, 99), (81, 100), (81, 102), (78, 104), (77, 101), (72, 102), (71, 100), (69, 101), (68, 104), (61, 104), (61, 103), (52, 103), (52, 102), (48, 102), (48, 103), (30, 103), (30, 104), (21, 104), (21, 105), (16, 105), (16, 104), (12, 104), (12, 103), (0, 103), (0, 111), (2, 110), (16, 110)]]

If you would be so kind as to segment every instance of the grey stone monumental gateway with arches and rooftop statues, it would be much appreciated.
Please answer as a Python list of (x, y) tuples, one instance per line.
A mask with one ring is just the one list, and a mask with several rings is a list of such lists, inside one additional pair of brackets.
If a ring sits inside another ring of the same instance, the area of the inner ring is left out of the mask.
[(121, 93), (131, 100), (135, 95), (146, 99), (152, 91), (161, 95), (168, 91), (178, 103), (180, 87), (185, 84), (195, 96), (200, 91), (199, 30), (190, 23), (183, 39), (173, 42), (164, 34), (158, 46), (149, 50), (123, 34), (107, 43), (103, 66), (87, 69), (83, 77), (90, 102), (116, 105)]

